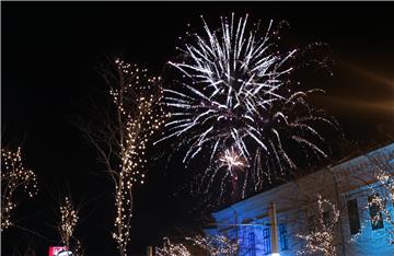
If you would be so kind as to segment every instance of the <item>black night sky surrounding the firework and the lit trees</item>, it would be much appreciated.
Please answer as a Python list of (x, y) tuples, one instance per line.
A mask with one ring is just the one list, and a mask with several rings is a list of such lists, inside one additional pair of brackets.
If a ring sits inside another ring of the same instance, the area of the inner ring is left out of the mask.
[[(2, 143), (23, 141), (25, 165), (35, 170), (40, 191), (23, 200), (20, 224), (44, 237), (27, 237), (14, 229), (3, 234), (2, 255), (31, 241), (37, 255), (59, 243), (54, 229), (59, 195), (80, 202), (79, 236), (86, 255), (116, 255), (112, 230), (112, 184), (101, 172), (95, 152), (70, 121), (89, 98), (103, 93), (96, 67), (123, 54), (160, 74), (176, 54), (186, 24), (200, 30), (220, 15), (250, 13), (252, 20), (286, 20), (296, 46), (327, 43), (334, 53), (334, 75), (321, 86), (318, 104), (337, 117), (349, 140), (394, 137), (394, 4), (286, 2), (2, 2)], [(174, 165), (173, 168), (179, 168)], [(131, 252), (158, 243), (175, 225), (196, 217), (176, 189), (174, 173), (152, 165), (150, 179), (136, 193)], [(182, 170), (177, 170), (182, 172)], [(25, 218), (25, 219), (22, 219)]]

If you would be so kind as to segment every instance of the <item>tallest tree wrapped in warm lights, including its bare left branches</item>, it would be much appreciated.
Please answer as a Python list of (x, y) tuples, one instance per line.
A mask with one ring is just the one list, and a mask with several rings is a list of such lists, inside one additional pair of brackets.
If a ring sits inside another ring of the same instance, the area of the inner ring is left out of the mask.
[(103, 71), (112, 105), (90, 127), (82, 127), (96, 148), (115, 185), (115, 231), (119, 254), (126, 255), (130, 240), (132, 188), (144, 183), (146, 150), (150, 137), (163, 124), (160, 78), (146, 69), (116, 59)]

